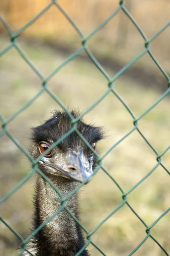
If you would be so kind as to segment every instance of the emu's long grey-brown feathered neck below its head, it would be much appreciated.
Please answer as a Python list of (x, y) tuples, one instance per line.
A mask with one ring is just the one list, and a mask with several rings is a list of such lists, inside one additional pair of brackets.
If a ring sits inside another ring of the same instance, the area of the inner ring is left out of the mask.
[[(52, 182), (58, 188), (62, 196), (66, 196), (72, 189), (78, 186), (77, 182), (69, 179), (55, 176), (51, 178)], [(35, 228), (52, 216), (60, 207), (60, 198), (50, 184), (37, 176), (35, 199)], [(66, 207), (78, 217), (77, 195), (74, 194), (66, 201)], [(76, 244), (78, 244), (77, 225), (72, 217), (62, 210), (46, 226), (40, 230), (36, 237), (37, 255), (48, 256), (72, 256), (76, 253)], [(43, 254), (45, 252), (45, 254)], [(69, 253), (69, 254), (68, 254)]]

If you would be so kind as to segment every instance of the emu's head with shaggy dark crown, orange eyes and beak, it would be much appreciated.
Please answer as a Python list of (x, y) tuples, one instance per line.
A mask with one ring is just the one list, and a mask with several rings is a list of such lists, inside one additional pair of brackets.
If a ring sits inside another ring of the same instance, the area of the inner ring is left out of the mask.
[[(71, 112), (74, 117), (78, 113)], [(46, 150), (72, 128), (71, 120), (65, 112), (56, 111), (53, 117), (43, 125), (32, 128), (32, 145), (30, 153), (34, 158)], [(96, 143), (102, 139), (102, 129), (77, 122), (78, 131), (95, 149)], [(92, 175), (96, 166), (96, 157), (74, 131), (59, 143), (38, 162), (39, 169), (47, 176), (58, 175), (80, 182)]]

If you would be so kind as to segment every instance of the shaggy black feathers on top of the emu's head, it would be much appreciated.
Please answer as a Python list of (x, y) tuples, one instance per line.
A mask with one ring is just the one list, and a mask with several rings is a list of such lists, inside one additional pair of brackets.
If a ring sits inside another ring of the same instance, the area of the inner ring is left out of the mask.
[[(79, 113), (71, 113), (74, 117), (79, 116)], [(46, 141), (55, 142), (66, 134), (66, 132), (68, 132), (71, 128), (72, 125), (69, 116), (65, 112), (56, 111), (53, 117), (47, 120), (43, 125), (32, 128), (32, 140), (34, 140), (36, 143), (40, 143), (44, 139), (46, 139)], [(77, 129), (89, 144), (98, 142), (103, 138), (103, 130), (101, 127), (87, 125), (82, 119), (77, 122)], [(75, 131), (58, 145), (58, 147), (63, 151), (77, 146), (86, 148), (86, 144), (81, 140)]]

